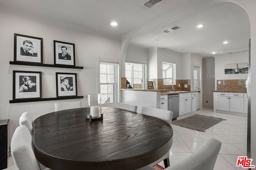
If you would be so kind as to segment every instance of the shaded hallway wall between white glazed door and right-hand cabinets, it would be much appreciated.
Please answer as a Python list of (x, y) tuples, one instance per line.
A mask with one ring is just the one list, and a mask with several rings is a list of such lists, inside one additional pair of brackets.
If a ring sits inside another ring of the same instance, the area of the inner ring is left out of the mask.
[[(203, 107), (213, 107), (213, 90), (215, 85), (215, 78), (212, 77), (215, 73), (215, 61), (214, 58), (205, 58), (202, 59), (202, 105)], [(204, 77), (204, 76), (211, 77)], [(206, 100), (208, 103), (206, 103)]]

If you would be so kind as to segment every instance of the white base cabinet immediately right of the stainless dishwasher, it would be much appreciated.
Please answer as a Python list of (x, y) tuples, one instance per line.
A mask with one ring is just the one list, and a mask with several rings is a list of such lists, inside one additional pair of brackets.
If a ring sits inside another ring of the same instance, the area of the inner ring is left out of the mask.
[(180, 94), (179, 113), (181, 115), (191, 112), (191, 93)]

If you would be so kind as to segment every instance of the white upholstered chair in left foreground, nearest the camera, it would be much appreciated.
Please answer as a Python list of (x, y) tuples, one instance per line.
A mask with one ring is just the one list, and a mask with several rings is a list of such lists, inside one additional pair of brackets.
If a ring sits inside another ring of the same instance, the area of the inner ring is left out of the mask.
[(33, 151), (33, 141), (28, 128), (21, 125), (12, 136), (11, 152), (15, 165), (19, 170), (50, 170), (43, 169)]

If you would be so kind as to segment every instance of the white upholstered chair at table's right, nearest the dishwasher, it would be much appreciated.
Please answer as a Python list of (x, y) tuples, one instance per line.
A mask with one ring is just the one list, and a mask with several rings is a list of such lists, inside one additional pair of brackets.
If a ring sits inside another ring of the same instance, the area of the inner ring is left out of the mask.
[[(172, 115), (173, 115), (172, 111), (157, 109), (152, 107), (142, 107), (141, 113), (144, 115), (149, 115), (149, 116), (157, 117), (158, 119), (162, 119), (167, 123), (169, 123), (170, 125), (172, 124)], [(150, 166), (154, 166), (155, 164), (158, 164), (159, 162), (164, 160), (164, 167), (167, 168), (168, 166), (170, 166), (169, 156), (170, 156), (169, 150), (166, 150), (166, 154), (159, 160), (150, 164)]]

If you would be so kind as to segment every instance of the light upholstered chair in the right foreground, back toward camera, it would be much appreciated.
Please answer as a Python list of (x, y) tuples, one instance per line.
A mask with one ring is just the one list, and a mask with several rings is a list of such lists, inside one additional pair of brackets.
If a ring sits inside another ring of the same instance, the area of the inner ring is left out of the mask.
[[(221, 142), (208, 139), (198, 150), (164, 170), (213, 170), (220, 152)], [(151, 165), (140, 170), (156, 170)]]

